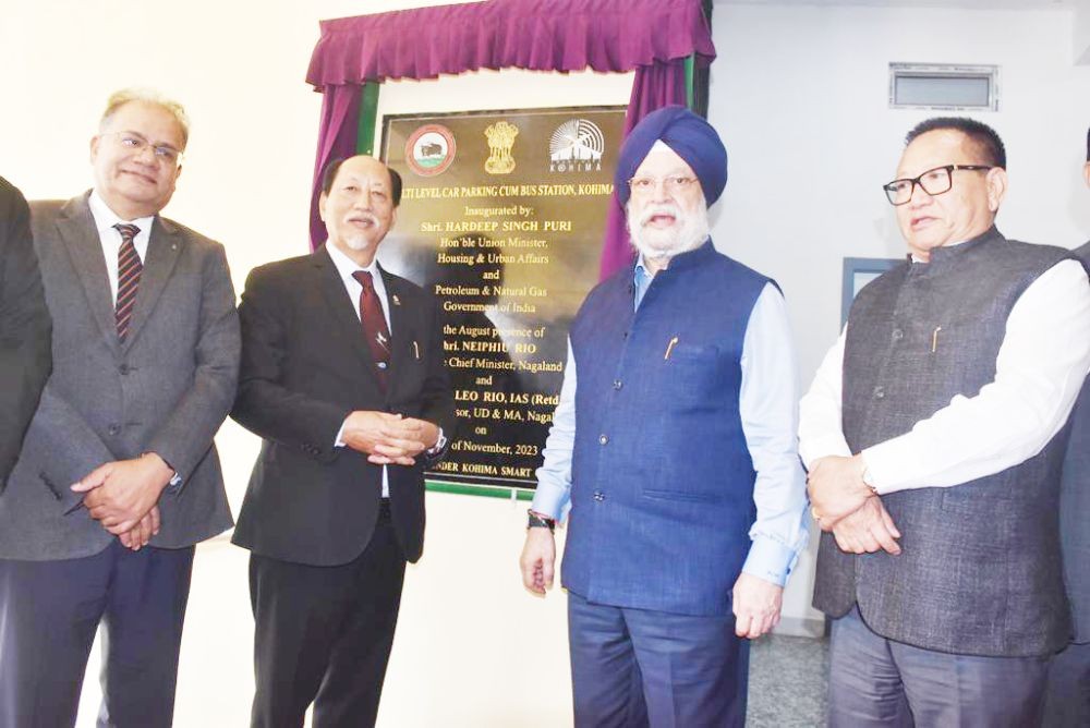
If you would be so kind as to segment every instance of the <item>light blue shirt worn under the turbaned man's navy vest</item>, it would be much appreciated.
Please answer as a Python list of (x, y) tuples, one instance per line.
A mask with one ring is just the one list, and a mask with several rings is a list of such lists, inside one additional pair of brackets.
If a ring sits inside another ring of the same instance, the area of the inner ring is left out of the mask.
[[(643, 258), (633, 270), (633, 305), (639, 308), (654, 280)], [(750, 314), (742, 342), (739, 410), (756, 481), (756, 520), (742, 571), (783, 586), (809, 535), (807, 484), (799, 461), (798, 374), (784, 296), (765, 286)], [(560, 400), (537, 469), (533, 510), (557, 520), (567, 517), (571, 495), (571, 456), (576, 444), (576, 360), (568, 342)], [(693, 444), (710, 447), (710, 444)]]

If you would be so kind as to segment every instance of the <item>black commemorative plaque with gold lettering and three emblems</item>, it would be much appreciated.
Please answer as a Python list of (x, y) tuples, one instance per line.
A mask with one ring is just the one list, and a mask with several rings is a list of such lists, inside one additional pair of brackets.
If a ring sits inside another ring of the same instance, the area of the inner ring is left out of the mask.
[(458, 429), (429, 480), (534, 487), (623, 126), (623, 107), (384, 120), (404, 187), (379, 258), (438, 298), (455, 389)]

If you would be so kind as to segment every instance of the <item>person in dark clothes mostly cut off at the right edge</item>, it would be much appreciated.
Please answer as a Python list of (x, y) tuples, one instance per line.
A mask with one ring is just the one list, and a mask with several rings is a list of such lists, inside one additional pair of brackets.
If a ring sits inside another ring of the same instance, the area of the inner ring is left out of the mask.
[[(1082, 177), (1090, 187), (1090, 129)], [(1075, 255), (1090, 266), (1090, 243)], [(1059, 534), (1075, 630), (1071, 643), (1049, 667), (1044, 725), (1076, 728), (1090, 725), (1090, 384), (1082, 385), (1071, 413), (1071, 439), (1059, 490)]]

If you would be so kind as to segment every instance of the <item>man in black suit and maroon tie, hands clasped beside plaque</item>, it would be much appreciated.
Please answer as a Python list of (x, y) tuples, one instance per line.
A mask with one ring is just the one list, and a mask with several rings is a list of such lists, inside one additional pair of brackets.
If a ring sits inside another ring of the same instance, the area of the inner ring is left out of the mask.
[(383, 269), (401, 179), (330, 165), (329, 238), (246, 280), (231, 413), (265, 441), (234, 543), (249, 548), (254, 726), (374, 725), (405, 561), (424, 545), (424, 465), (453, 424), (439, 306)]

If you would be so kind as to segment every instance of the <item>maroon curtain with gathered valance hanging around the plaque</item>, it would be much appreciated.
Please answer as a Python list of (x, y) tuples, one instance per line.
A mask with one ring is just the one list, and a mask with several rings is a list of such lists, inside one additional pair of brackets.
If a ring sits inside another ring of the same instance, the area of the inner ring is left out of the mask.
[[(322, 21), (306, 81), (326, 94), (314, 170), (312, 245), (320, 174), (355, 151), (360, 89), (367, 81), (435, 78), (480, 69), (635, 71), (626, 133), (647, 112), (686, 102), (683, 59), (715, 58), (701, 0), (485, 0)], [(603, 274), (625, 265), (628, 238), (615, 203)], [(626, 257), (628, 256), (628, 257)]]

